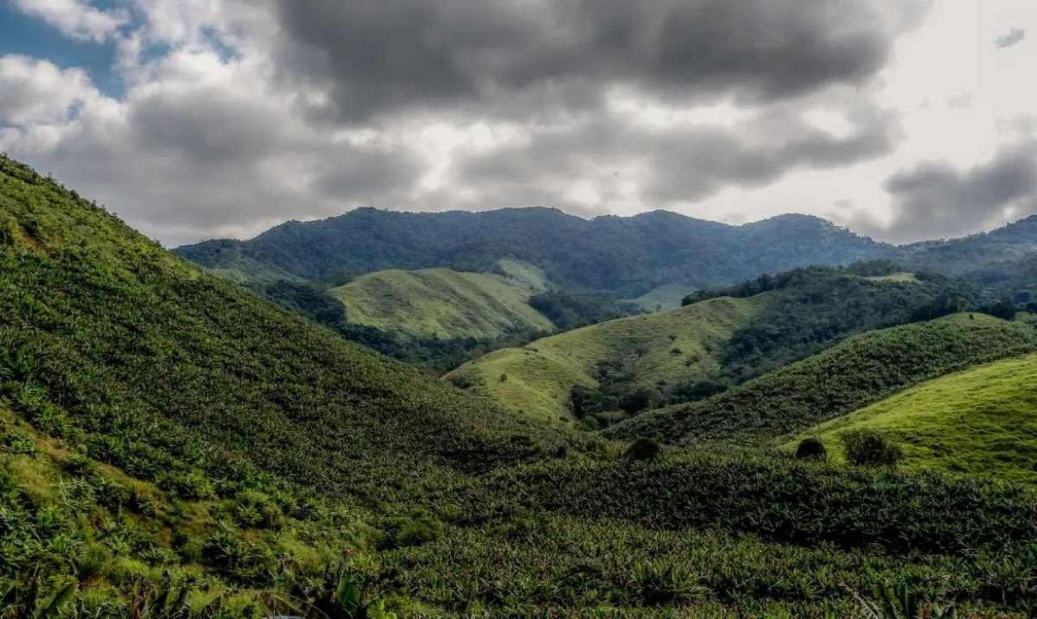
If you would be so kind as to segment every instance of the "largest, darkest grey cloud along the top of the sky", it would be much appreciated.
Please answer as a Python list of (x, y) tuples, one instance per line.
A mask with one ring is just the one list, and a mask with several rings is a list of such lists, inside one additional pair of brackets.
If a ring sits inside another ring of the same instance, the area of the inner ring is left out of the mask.
[(330, 86), (349, 121), (414, 109), (526, 115), (602, 89), (744, 102), (857, 83), (921, 2), (276, 0), (286, 75)]

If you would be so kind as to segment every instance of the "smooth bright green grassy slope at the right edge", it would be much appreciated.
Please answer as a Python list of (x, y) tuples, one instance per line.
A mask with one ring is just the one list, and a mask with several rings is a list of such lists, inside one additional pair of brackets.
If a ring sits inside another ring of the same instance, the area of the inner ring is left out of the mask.
[(904, 452), (903, 466), (1037, 483), (1037, 355), (941, 376), (808, 431), (845, 456), (844, 431), (870, 428)]

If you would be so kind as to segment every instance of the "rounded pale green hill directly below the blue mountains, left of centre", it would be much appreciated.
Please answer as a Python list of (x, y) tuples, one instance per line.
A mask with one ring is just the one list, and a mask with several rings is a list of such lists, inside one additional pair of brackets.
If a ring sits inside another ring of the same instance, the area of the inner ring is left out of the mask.
[(499, 275), (448, 269), (380, 271), (329, 290), (351, 322), (443, 339), (553, 330), (529, 305), (536, 291)]

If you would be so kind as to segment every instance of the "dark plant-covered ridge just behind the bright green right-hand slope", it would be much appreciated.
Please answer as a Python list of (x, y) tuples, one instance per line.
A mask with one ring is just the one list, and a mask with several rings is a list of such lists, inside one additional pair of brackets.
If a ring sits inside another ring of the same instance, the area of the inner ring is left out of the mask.
[(955, 314), (854, 336), (711, 398), (651, 411), (613, 438), (770, 440), (845, 415), (919, 382), (1037, 347), (1037, 331), (984, 314)]

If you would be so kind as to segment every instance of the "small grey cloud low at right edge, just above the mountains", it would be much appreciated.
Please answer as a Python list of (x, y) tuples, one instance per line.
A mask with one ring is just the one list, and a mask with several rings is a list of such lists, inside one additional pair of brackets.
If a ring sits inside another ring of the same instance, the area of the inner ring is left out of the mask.
[(859, 213), (851, 227), (894, 242), (953, 237), (1037, 212), (1037, 142), (1003, 148), (989, 162), (958, 170), (925, 162), (886, 182), (893, 199), (888, 225)]

